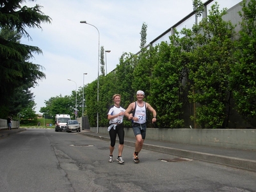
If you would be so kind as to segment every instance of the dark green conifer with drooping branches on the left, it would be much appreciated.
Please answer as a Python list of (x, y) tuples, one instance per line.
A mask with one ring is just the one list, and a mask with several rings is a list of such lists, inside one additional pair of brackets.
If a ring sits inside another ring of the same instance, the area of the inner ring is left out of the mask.
[[(33, 0), (31, 0), (33, 1)], [(21, 36), (31, 39), (28, 28), (41, 28), (42, 22), (51, 22), (49, 16), (40, 11), (42, 6), (33, 8), (20, 6), (22, 0), (0, 2), (0, 108), (8, 108), (8, 100), (15, 88), (23, 84), (33, 86), (38, 79), (45, 78), (42, 66), (29, 62), (33, 53), (42, 51), (35, 46), (20, 44)]]

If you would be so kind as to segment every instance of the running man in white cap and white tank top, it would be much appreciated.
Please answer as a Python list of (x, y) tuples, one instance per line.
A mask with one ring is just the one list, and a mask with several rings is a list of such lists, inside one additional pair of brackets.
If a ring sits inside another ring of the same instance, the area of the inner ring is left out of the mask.
[(147, 110), (153, 114), (152, 123), (156, 122), (156, 110), (150, 106), (149, 103), (144, 102), (145, 93), (139, 90), (136, 94), (137, 101), (129, 104), (125, 110), (124, 115), (132, 120), (132, 130), (136, 137), (135, 151), (133, 154), (133, 161), (139, 163), (138, 157), (139, 152), (143, 146), (143, 142), (146, 137), (146, 121), (147, 121)]

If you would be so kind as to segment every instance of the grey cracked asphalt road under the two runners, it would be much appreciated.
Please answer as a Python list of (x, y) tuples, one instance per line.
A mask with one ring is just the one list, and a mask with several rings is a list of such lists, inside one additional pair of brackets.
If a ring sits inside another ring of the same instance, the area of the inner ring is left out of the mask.
[(108, 141), (52, 129), (3, 138), (0, 191), (256, 191), (255, 172), (150, 150), (142, 150), (134, 164), (129, 146), (125, 164), (108, 163), (108, 147)]

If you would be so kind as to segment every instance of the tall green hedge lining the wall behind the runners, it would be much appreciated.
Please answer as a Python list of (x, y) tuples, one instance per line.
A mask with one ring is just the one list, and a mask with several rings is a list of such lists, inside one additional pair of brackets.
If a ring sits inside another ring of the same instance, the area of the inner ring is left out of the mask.
[[(143, 90), (145, 100), (156, 109), (158, 127), (188, 127), (193, 122), (198, 128), (230, 128), (236, 123), (230, 118), (235, 109), (252, 123), (256, 115), (255, 0), (248, 5), (244, 0), (242, 6), (239, 35), (230, 21), (223, 20), (227, 9), (220, 10), (214, 3), (209, 15), (192, 29), (175, 31), (170, 44), (142, 47), (138, 55), (124, 53), (113, 72), (100, 76), (99, 106), (97, 82), (86, 86), (90, 125), (97, 124), (99, 110), (99, 126), (106, 127), (113, 94), (120, 93), (127, 108), (137, 90)], [(200, 6), (196, 15), (202, 11)], [(129, 121), (125, 126), (131, 126)]]

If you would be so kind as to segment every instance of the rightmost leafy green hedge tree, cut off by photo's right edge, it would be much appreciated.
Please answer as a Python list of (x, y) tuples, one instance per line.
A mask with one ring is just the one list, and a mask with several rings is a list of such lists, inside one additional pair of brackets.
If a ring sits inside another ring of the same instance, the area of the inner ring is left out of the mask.
[(238, 113), (256, 126), (256, 1), (252, 0), (248, 5), (243, 1), (241, 6), (241, 30), (230, 82)]

